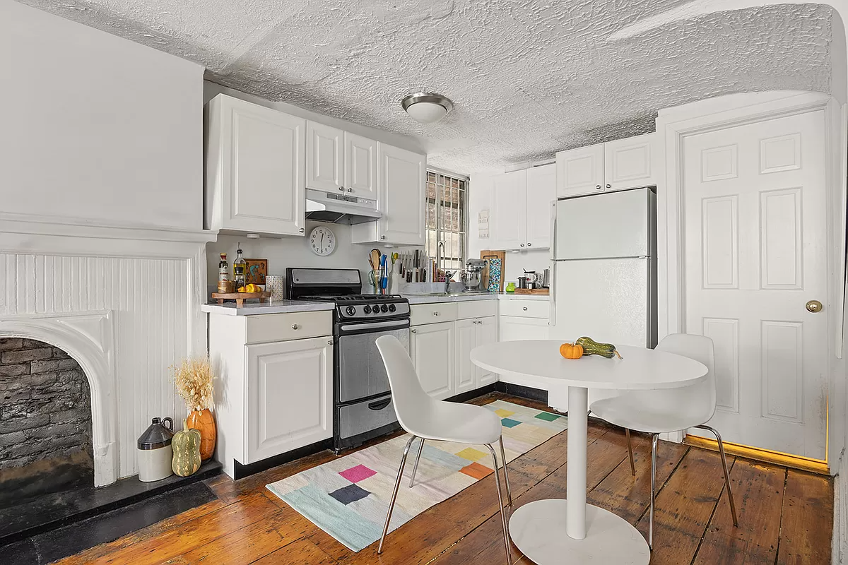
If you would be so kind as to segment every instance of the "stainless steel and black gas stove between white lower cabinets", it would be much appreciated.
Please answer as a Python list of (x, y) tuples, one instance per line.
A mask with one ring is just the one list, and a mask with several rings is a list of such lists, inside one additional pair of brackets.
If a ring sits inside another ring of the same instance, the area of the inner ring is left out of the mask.
[(399, 429), (375, 341), (394, 335), (410, 348), (410, 303), (362, 294), (356, 269), (286, 269), (290, 300), (329, 301), (333, 311), (333, 443), (336, 451)]

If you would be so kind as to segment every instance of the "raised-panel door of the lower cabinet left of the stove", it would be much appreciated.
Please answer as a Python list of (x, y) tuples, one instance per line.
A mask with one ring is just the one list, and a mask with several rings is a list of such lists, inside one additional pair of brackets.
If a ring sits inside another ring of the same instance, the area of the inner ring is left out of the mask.
[(332, 437), (329, 337), (247, 348), (247, 461)]

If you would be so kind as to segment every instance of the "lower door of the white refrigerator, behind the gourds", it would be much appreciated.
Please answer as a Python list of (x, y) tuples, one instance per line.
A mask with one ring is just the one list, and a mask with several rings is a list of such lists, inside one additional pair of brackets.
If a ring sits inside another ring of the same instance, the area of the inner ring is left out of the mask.
[(551, 339), (653, 346), (651, 261), (648, 258), (558, 261)]

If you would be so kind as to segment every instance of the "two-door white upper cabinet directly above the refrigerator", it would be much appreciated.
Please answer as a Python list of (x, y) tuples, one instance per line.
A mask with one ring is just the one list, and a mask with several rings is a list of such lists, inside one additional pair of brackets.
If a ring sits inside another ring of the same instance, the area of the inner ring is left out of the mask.
[(656, 134), (628, 137), (556, 154), (556, 196), (655, 186)]

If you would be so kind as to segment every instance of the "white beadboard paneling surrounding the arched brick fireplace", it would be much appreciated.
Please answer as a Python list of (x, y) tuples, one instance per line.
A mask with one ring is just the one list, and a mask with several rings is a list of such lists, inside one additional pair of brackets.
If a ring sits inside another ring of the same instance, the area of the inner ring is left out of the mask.
[(177, 423), (184, 418), (169, 366), (196, 349), (192, 270), (205, 265), (194, 263), (195, 258), (0, 254), (0, 316), (114, 313), (120, 477), (137, 473), (136, 440), (150, 418), (170, 416)]

